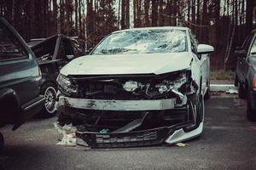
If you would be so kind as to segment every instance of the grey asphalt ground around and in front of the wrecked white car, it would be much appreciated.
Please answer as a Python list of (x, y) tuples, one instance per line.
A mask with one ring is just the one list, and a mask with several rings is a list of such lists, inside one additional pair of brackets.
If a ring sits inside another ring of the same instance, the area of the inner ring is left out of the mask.
[(256, 169), (256, 122), (246, 118), (246, 102), (236, 94), (214, 93), (206, 101), (201, 137), (185, 147), (92, 150), (56, 145), (56, 118), (32, 119), (12, 132), (4, 127), (2, 169)]

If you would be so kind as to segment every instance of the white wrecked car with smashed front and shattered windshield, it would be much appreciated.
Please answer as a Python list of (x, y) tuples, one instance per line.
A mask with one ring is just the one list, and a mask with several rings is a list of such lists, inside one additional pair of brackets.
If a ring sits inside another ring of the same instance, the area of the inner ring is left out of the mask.
[(59, 122), (92, 148), (174, 144), (201, 134), (212, 46), (188, 28), (115, 31), (57, 78)]

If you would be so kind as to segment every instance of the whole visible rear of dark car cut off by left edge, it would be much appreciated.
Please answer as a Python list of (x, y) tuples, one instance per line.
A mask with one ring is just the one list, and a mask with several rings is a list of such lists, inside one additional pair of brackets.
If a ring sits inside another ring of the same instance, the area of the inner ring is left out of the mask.
[[(0, 127), (13, 130), (43, 107), (41, 71), (26, 42), (9, 23), (0, 18)], [(3, 135), (0, 135), (3, 148)]]

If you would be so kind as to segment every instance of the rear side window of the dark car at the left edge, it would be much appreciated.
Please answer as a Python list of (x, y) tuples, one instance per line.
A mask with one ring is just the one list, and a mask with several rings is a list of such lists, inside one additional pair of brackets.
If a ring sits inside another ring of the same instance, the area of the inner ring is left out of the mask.
[(0, 21), (0, 60), (26, 58), (27, 53), (20, 41)]

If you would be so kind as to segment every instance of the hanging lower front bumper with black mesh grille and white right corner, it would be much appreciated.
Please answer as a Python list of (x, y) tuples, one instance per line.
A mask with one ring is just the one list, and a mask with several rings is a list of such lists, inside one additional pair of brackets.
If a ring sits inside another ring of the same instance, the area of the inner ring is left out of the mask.
[[(189, 126), (183, 125), (183, 127)], [(203, 122), (190, 132), (185, 132), (183, 127), (158, 127), (143, 131), (129, 133), (93, 133), (77, 131), (79, 138), (77, 144), (89, 145), (91, 148), (119, 148), (137, 147), (163, 144), (175, 144), (180, 141), (199, 136), (203, 129)], [(82, 139), (82, 141), (80, 140)]]

